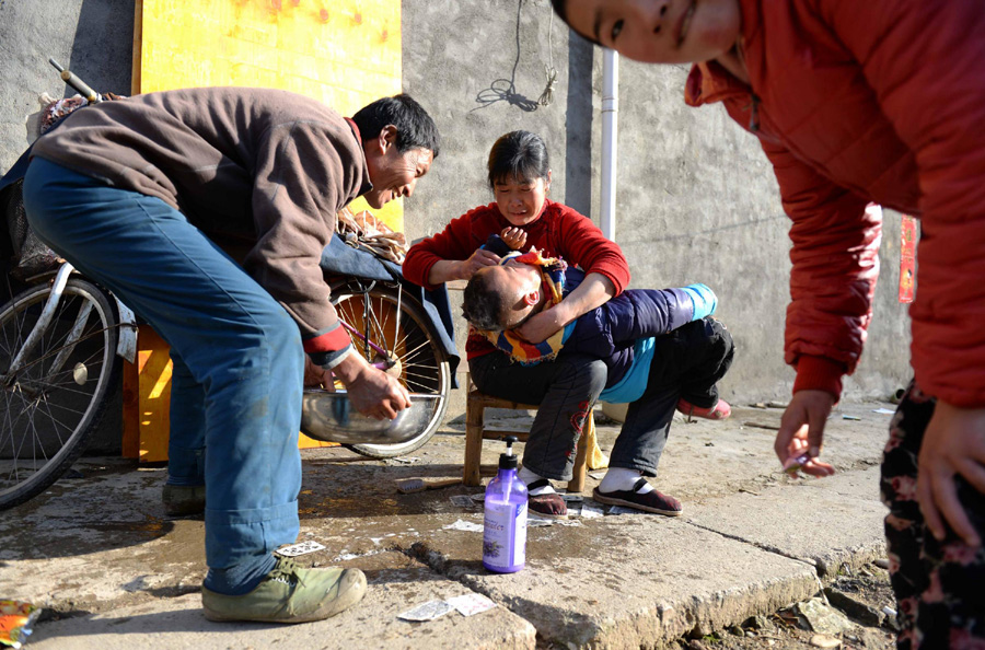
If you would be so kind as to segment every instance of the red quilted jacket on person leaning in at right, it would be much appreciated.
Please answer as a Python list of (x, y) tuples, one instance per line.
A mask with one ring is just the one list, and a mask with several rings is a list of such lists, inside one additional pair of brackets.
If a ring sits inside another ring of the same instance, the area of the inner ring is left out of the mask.
[(928, 393), (985, 405), (985, 10), (974, 0), (740, 0), (750, 84), (715, 62), (686, 101), (723, 102), (773, 162), (793, 270), (795, 391), (841, 392), (871, 317), (874, 201), (922, 219), (912, 362)]

